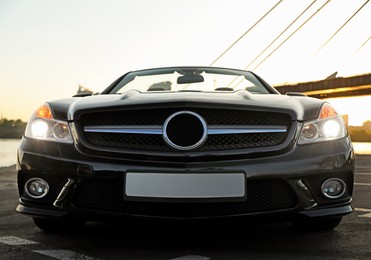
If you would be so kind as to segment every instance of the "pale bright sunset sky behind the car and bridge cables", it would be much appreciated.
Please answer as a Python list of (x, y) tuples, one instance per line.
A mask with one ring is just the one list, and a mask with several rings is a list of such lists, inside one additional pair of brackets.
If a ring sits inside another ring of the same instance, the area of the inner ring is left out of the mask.
[[(27, 121), (45, 101), (72, 96), (79, 85), (100, 92), (129, 70), (210, 65), (277, 2), (0, 0), (1, 115)], [(312, 2), (283, 0), (214, 65), (255, 68), (327, 0), (315, 1), (247, 67)], [(321, 80), (335, 71), (370, 73), (370, 3), (315, 54), (365, 2), (330, 1), (254, 72), (272, 85)], [(351, 124), (371, 119), (370, 104), (371, 97), (334, 100)]]

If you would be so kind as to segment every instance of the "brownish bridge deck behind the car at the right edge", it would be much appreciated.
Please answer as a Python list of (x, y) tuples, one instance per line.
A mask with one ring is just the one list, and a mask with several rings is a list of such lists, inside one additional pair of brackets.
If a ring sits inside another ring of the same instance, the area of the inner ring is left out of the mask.
[(298, 92), (320, 99), (371, 95), (371, 73), (344, 78), (335, 74), (324, 80), (274, 87), (281, 94)]

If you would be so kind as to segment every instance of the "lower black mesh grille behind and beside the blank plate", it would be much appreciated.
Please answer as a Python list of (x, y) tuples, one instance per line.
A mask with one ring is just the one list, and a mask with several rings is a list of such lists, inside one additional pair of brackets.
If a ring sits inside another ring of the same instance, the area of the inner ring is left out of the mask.
[(80, 209), (124, 214), (197, 218), (289, 210), (297, 206), (290, 186), (279, 179), (248, 180), (245, 202), (165, 203), (124, 201), (122, 179), (90, 179), (76, 190), (73, 205)]

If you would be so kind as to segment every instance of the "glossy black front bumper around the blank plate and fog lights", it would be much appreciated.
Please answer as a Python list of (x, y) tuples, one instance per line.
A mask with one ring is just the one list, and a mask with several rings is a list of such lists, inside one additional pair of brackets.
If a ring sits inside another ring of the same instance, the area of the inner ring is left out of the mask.
[[(248, 216), (332, 217), (352, 212), (354, 153), (350, 140), (294, 146), (290, 152), (264, 157), (202, 162), (105, 158), (78, 152), (73, 145), (24, 138), (18, 151), (17, 211), (34, 217), (145, 217), (205, 219)], [(246, 200), (126, 201), (127, 172), (236, 173), (246, 176)], [(25, 193), (25, 183), (42, 178), (50, 191), (41, 199)], [(322, 183), (340, 178), (344, 195), (325, 197)]]

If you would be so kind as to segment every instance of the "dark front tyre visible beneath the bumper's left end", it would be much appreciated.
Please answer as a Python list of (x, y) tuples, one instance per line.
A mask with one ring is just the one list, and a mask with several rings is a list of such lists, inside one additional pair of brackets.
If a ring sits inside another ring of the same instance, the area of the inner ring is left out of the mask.
[(82, 220), (60, 220), (50, 218), (33, 218), (35, 225), (45, 232), (65, 232), (80, 229), (84, 225)]

